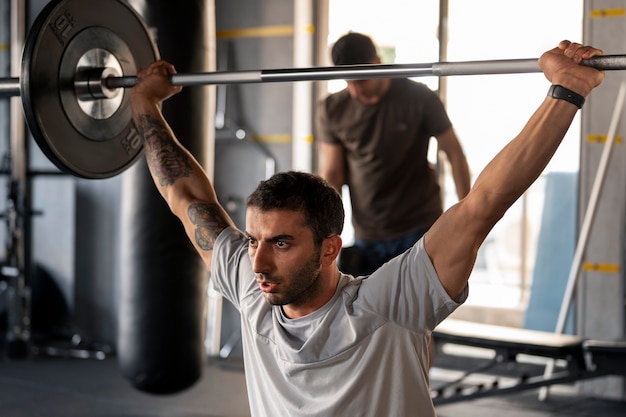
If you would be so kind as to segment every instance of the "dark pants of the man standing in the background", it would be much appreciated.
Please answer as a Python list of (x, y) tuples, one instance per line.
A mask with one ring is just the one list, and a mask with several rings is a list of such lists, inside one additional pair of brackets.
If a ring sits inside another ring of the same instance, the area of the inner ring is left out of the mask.
[(337, 264), (341, 272), (354, 276), (369, 275), (382, 264), (411, 248), (426, 230), (418, 230), (394, 239), (359, 240), (341, 249)]

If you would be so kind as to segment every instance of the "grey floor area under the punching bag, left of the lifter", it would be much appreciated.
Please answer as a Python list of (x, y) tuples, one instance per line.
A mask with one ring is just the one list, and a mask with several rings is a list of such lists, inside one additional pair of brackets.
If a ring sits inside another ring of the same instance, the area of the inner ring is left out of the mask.
[(240, 366), (208, 364), (200, 381), (166, 396), (133, 388), (115, 358), (0, 363), (2, 417), (245, 417)]

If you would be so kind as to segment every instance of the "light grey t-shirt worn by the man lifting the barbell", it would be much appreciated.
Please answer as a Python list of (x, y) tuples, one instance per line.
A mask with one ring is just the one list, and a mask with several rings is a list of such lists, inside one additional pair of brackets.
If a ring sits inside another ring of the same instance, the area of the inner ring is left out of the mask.
[(252, 416), (435, 416), (431, 332), (468, 289), (450, 299), (423, 240), (367, 278), (342, 274), (334, 297), (298, 319), (265, 301), (235, 229), (215, 243), (211, 279), (241, 313)]

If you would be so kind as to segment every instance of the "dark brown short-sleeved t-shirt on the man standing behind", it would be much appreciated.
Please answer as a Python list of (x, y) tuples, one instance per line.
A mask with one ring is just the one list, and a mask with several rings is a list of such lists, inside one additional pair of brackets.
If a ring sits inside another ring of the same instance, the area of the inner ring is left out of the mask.
[(451, 126), (437, 94), (408, 79), (392, 79), (376, 104), (362, 104), (345, 89), (320, 103), (317, 139), (345, 149), (357, 239), (399, 237), (441, 215), (428, 145)]

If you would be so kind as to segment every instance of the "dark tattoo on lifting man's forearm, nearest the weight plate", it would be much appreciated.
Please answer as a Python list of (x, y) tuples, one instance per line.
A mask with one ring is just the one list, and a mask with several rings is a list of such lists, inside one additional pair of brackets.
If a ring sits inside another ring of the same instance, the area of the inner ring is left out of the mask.
[(142, 115), (136, 125), (145, 140), (148, 165), (162, 186), (172, 185), (178, 178), (191, 174), (189, 155), (175, 144), (161, 120)]

